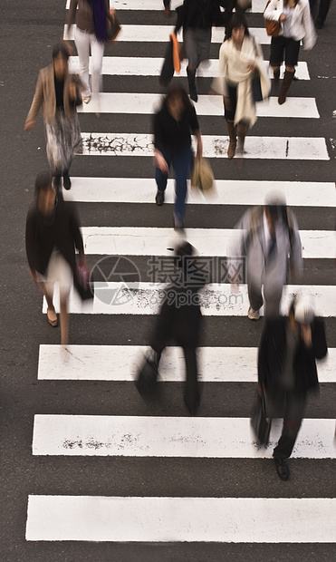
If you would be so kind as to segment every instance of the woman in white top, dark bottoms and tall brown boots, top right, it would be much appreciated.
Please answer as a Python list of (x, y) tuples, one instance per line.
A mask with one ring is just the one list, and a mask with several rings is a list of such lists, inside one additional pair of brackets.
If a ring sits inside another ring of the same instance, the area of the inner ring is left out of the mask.
[(283, 60), (285, 63), (283, 83), (278, 97), (278, 103), (282, 105), (293, 81), (301, 41), (305, 51), (310, 51), (316, 43), (309, 0), (271, 0), (264, 11), (264, 19), (280, 24), (279, 35), (272, 37), (270, 64), (274, 80), (278, 82), (280, 66)]

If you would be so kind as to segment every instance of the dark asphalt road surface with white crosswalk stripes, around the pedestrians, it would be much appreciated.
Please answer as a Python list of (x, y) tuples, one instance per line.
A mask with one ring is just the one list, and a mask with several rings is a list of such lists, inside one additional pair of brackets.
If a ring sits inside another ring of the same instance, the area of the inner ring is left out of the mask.
[[(212, 240), (226, 239), (226, 230), (277, 181), (292, 202), (302, 239), (306, 236), (302, 285), (325, 316), (331, 354), (321, 366), (320, 396), (308, 403), (307, 424), (289, 463), (291, 478), (283, 482), (274, 470), (272, 447), (256, 451), (248, 431), (263, 320), (247, 319), (244, 290), (238, 312), (226, 307), (218, 312), (216, 303), (205, 311), (202, 402), (195, 419), (182, 400), (183, 363), (177, 363), (176, 350), (169, 350), (156, 400), (143, 402), (132, 382), (137, 346), (146, 346), (155, 320), (153, 293), (146, 293), (152, 253), (141, 249), (144, 231), (137, 229), (150, 228), (149, 247), (162, 247), (157, 257), (167, 256), (175, 240), (172, 204), (155, 206), (153, 162), (143, 149), (150, 140), (152, 107), (144, 94), (160, 92), (150, 59), (163, 57), (167, 29), (160, 35), (159, 26), (172, 26), (175, 15), (167, 21), (160, 0), (139, 0), (138, 10), (125, 9), (128, 4), (116, 4), (124, 36), (106, 48), (104, 63), (112, 70), (103, 76), (106, 94), (125, 95), (105, 98), (100, 117), (92, 104), (81, 112), (83, 136), (95, 133), (100, 152), (88, 149), (74, 160), (70, 195), (78, 201), (89, 265), (111, 255), (104, 262), (109, 268), (126, 257), (122, 273), (136, 271), (147, 297), (139, 306), (126, 303), (124, 310), (98, 301), (96, 308), (83, 308), (72, 300), (70, 346), (64, 352), (59, 328), (47, 325), (27, 269), (25, 217), (36, 173), (48, 165), (41, 116), (29, 134), (24, 121), (37, 74), (51, 62), (62, 36), (65, 0), (1, 2), (0, 559), (329, 562), (336, 540), (335, 5), (312, 52), (300, 53), (300, 72), (308, 74), (293, 82), (283, 113), (272, 113), (271, 103), (265, 113), (260, 110), (244, 160), (228, 161), (219, 149), (211, 153), (218, 199), (191, 199), (187, 207), (187, 237), (198, 236), (204, 255), (216, 259), (226, 255), (226, 244), (211, 253), (210, 230)], [(260, 12), (254, 9), (247, 18), (264, 33)], [(146, 36), (149, 25), (155, 41)], [(212, 59), (219, 46), (212, 44)], [(269, 44), (262, 47), (267, 61)], [(120, 57), (128, 58), (123, 64)], [(113, 71), (117, 64), (123, 70)], [(187, 86), (183, 72), (176, 80)], [(217, 101), (206, 110), (211, 82), (205, 69), (197, 82), (205, 96), (197, 112), (202, 134), (215, 136), (225, 152)], [(275, 138), (280, 144), (274, 149)], [(289, 288), (285, 298), (293, 292), (295, 287)]]

